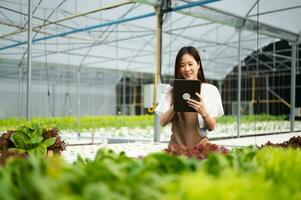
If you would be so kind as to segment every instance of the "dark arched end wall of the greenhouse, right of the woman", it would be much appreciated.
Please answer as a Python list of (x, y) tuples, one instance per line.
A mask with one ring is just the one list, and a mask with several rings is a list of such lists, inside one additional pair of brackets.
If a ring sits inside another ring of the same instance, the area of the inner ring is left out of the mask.
[[(300, 45), (299, 45), (300, 46)], [(273, 48), (274, 47), (274, 48)], [(299, 47), (300, 48), (300, 47)], [(270, 56), (270, 54), (277, 56)], [(253, 52), (241, 68), (241, 114), (290, 114), (291, 45), (278, 41)], [(301, 56), (301, 51), (298, 56)], [(257, 62), (256, 59), (260, 62)], [(295, 109), (301, 107), (301, 60), (296, 61)], [(221, 96), (226, 114), (237, 114), (237, 66), (223, 80)]]

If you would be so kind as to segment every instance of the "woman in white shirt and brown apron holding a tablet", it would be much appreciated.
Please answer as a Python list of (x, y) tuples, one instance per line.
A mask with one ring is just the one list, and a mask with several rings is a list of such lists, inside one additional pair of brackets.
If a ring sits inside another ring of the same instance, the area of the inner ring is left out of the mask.
[(199, 101), (188, 99), (187, 103), (196, 112), (175, 112), (173, 108), (173, 88), (161, 98), (156, 107), (160, 125), (171, 123), (172, 135), (169, 144), (192, 148), (199, 143), (209, 142), (206, 130), (213, 130), (216, 118), (224, 114), (221, 96), (214, 85), (206, 83), (203, 66), (198, 51), (191, 46), (182, 47), (175, 61), (175, 79), (200, 80)]

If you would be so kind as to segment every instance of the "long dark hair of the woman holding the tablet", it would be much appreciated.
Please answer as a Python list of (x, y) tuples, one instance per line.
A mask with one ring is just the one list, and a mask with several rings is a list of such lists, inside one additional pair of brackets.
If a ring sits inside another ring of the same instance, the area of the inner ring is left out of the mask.
[(185, 54), (191, 55), (196, 60), (196, 62), (200, 64), (200, 68), (198, 70), (198, 79), (201, 80), (201, 82), (205, 83), (206, 79), (203, 71), (203, 65), (202, 65), (200, 54), (198, 50), (192, 46), (182, 47), (178, 52), (176, 57), (176, 62), (175, 62), (175, 79), (184, 79), (180, 73), (180, 67), (181, 67), (182, 56)]

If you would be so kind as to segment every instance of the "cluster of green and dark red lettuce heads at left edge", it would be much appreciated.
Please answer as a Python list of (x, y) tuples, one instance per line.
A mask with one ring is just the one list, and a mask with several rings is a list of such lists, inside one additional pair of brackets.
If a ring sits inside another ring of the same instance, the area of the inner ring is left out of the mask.
[(0, 137), (0, 159), (17, 157), (22, 154), (30, 157), (59, 155), (67, 144), (61, 139), (56, 128), (47, 128), (42, 122), (31, 121), (15, 130), (8, 130)]

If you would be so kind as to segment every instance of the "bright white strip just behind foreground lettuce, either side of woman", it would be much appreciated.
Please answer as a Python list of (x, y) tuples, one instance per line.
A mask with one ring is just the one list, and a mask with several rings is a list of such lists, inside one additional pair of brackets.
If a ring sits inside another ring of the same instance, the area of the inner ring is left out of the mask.
[[(225, 146), (228, 149), (249, 146), (249, 145), (262, 145), (268, 141), (272, 143), (282, 143), (289, 140), (293, 136), (300, 136), (301, 132), (264, 135), (264, 136), (251, 136), (230, 139), (212, 139), (211, 142), (217, 145)], [(167, 143), (154, 143), (154, 142), (129, 142), (117, 144), (91, 144), (91, 145), (72, 145), (68, 146), (66, 151), (62, 152), (62, 157), (67, 162), (73, 162), (77, 156), (93, 160), (96, 152), (100, 148), (111, 149), (116, 153), (125, 152), (127, 156), (139, 157), (145, 156), (153, 152), (160, 152), (167, 148)]]

